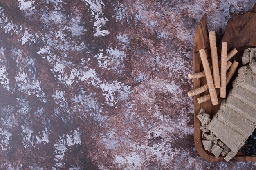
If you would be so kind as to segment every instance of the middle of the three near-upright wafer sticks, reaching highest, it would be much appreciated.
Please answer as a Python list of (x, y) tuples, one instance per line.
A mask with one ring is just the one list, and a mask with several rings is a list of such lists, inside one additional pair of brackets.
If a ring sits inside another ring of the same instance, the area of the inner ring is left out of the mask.
[(218, 53), (216, 46), (215, 32), (209, 32), (210, 48), (211, 48), (211, 63), (213, 68), (213, 79), (215, 88), (220, 88), (220, 72), (218, 65)]

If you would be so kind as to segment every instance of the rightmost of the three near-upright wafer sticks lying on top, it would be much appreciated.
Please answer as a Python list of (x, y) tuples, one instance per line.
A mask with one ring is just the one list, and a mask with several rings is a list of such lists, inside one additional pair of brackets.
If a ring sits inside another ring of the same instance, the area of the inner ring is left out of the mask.
[(221, 46), (221, 66), (220, 66), (220, 97), (226, 98), (227, 82), (227, 42), (222, 42)]

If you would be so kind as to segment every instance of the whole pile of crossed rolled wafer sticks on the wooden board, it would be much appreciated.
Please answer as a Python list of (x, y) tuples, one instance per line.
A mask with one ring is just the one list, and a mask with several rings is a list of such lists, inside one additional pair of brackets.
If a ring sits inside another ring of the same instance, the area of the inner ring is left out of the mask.
[(202, 60), (204, 71), (188, 74), (188, 77), (190, 79), (206, 77), (207, 84), (199, 88), (196, 88), (193, 91), (189, 91), (188, 96), (192, 97), (209, 90), (208, 95), (204, 95), (202, 97), (197, 98), (198, 103), (207, 102), (211, 99), (212, 104), (217, 105), (218, 95), (220, 95), (221, 98), (226, 98), (226, 86), (231, 80), (231, 77), (234, 75), (236, 68), (238, 67), (238, 62), (234, 61), (232, 63), (229, 60), (238, 51), (234, 48), (229, 53), (227, 53), (227, 42), (222, 42), (221, 60), (218, 61), (216, 36), (214, 31), (209, 32), (209, 40), (211, 48), (212, 67), (210, 68), (209, 66), (205, 50), (200, 49), (199, 53)]

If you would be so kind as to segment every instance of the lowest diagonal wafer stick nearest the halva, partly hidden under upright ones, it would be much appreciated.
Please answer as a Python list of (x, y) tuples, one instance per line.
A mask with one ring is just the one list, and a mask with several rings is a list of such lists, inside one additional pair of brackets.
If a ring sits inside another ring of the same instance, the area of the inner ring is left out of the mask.
[[(238, 62), (234, 61), (231, 68), (227, 72), (227, 83), (226, 83), (226, 85), (229, 84), (229, 82), (230, 82), (231, 78), (233, 77), (237, 67), (238, 67)], [(220, 95), (220, 89), (219, 88), (216, 89), (216, 94), (217, 94), (217, 96)], [(203, 103), (203, 102), (207, 102), (210, 99), (211, 99), (210, 94), (197, 98), (199, 104)]]

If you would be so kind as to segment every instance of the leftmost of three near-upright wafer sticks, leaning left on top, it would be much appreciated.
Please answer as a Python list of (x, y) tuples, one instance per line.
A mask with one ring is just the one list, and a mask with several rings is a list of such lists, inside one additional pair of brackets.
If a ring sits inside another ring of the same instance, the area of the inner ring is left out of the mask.
[(199, 53), (200, 53), (200, 57), (201, 57), (201, 60), (202, 60), (203, 67), (204, 67), (204, 72), (205, 72), (207, 85), (208, 85), (208, 88), (209, 88), (209, 93), (210, 93), (210, 96), (211, 96), (211, 103), (214, 106), (214, 105), (219, 104), (219, 102), (218, 102), (218, 98), (217, 98), (216, 91), (215, 91), (215, 88), (214, 88), (210, 66), (209, 66), (209, 63), (208, 63), (208, 60), (207, 60), (205, 50), (200, 49)]

